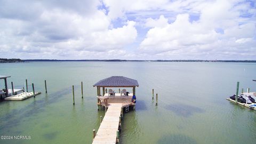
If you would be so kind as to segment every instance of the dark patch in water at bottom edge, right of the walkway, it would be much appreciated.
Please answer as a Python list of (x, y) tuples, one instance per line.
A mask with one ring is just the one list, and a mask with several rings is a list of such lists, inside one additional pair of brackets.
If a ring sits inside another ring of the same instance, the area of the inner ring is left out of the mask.
[(170, 142), (173, 144), (197, 144), (196, 140), (184, 134), (163, 135), (163, 137), (157, 141), (157, 143), (162, 144), (169, 144)]

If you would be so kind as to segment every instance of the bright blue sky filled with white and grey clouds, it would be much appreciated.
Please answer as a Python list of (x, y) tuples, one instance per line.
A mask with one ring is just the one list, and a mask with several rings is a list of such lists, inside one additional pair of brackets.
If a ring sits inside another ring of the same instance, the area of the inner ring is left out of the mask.
[(2, 58), (256, 60), (256, 2), (0, 0)]

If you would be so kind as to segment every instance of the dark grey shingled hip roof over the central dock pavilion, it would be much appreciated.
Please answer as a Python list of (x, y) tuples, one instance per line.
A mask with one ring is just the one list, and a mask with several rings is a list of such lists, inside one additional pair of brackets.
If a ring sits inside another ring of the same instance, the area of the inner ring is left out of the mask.
[(105, 79), (102, 79), (98, 83), (95, 83), (93, 86), (101, 87), (128, 87), (128, 86), (139, 86), (138, 81), (135, 79), (127, 78), (124, 76), (111, 76)]

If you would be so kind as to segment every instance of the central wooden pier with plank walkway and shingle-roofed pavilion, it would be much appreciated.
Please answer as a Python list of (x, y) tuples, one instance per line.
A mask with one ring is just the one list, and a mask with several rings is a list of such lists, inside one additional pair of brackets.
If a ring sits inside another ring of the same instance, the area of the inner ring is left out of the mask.
[[(94, 139), (92, 143), (115, 144), (119, 142), (118, 129), (120, 128), (121, 130), (123, 109), (125, 108), (125, 112), (129, 111), (130, 106), (135, 109), (135, 87), (138, 87), (139, 84), (135, 79), (123, 76), (111, 76), (102, 79), (93, 86), (97, 86), (98, 110), (100, 107), (105, 107), (105, 111), (107, 111), (97, 134), (95, 134), (95, 130), (93, 130)], [(120, 88), (123, 90), (121, 91)], [(127, 88), (132, 88), (132, 92), (127, 91)], [(115, 92), (115, 89), (118, 89), (118, 92)]]

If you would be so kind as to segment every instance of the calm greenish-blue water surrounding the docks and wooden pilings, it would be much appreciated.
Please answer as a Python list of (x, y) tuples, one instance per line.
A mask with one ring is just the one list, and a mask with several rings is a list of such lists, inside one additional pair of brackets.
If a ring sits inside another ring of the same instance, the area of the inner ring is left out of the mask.
[[(226, 100), (240, 87), (256, 91), (255, 63), (26, 62), (1, 63), (15, 88), (25, 79), (42, 94), (0, 102), (0, 135), (30, 140), (0, 143), (91, 143), (103, 110), (92, 85), (110, 76), (137, 79), (137, 107), (124, 115), (121, 143), (255, 143), (256, 111)], [(44, 79), (48, 93), (44, 92)], [(84, 82), (84, 99), (81, 98)], [(4, 87), (4, 81), (0, 81)], [(75, 106), (71, 85), (75, 85)], [(158, 106), (151, 89), (158, 93)], [(241, 90), (241, 89), (240, 89)], [(130, 90), (131, 91), (131, 90)]]

